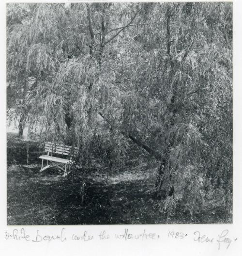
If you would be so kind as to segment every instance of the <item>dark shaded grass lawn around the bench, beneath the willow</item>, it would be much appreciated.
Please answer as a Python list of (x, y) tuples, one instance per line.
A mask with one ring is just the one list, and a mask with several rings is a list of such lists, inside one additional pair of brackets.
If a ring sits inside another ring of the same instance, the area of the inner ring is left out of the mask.
[[(224, 209), (209, 201), (193, 217), (178, 207), (166, 218), (155, 199), (156, 169), (130, 164), (106, 176), (102, 167), (62, 177), (58, 169), (42, 173), (41, 145), (7, 136), (7, 224), (170, 224), (224, 223)], [(85, 177), (84, 197), (81, 184)]]

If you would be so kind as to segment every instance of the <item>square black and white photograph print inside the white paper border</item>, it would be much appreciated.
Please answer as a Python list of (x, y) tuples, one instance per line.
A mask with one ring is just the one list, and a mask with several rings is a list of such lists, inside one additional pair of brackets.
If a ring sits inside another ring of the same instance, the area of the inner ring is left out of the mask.
[(232, 7), (7, 3), (7, 225), (232, 224)]

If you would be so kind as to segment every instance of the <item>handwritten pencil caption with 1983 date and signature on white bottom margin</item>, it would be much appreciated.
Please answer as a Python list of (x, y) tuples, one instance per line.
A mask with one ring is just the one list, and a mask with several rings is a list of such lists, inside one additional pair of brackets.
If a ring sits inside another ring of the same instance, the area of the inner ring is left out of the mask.
[(195, 231), (193, 233), (183, 233), (176, 231), (168, 231), (166, 235), (159, 235), (157, 233), (148, 232), (144, 229), (140, 233), (133, 233), (128, 228), (125, 228), (121, 233), (109, 234), (106, 230), (101, 230), (98, 235), (89, 233), (88, 231), (83, 231), (80, 234), (66, 234), (66, 228), (62, 228), (60, 233), (57, 234), (44, 234), (40, 230), (36, 230), (34, 234), (27, 233), (25, 228), (13, 229), (10, 232), (5, 231), (5, 240), (24, 240), (27, 242), (51, 242), (54, 240), (59, 240), (61, 242), (73, 240), (73, 241), (84, 241), (88, 242), (91, 240), (191, 240), (198, 244), (216, 244), (218, 250), (221, 248), (228, 249), (232, 242), (238, 240), (238, 238), (231, 238), (229, 236), (229, 231), (227, 229), (221, 231), (215, 237), (209, 237), (206, 234), (202, 234), (200, 231)]

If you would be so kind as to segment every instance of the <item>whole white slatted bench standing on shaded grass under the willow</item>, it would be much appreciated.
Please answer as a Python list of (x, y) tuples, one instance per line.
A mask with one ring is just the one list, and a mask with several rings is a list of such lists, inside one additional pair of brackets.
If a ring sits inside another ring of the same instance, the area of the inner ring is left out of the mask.
[[(58, 166), (61, 170), (64, 171), (63, 176), (67, 176), (66, 166), (68, 164), (68, 166), (70, 168), (70, 165), (73, 163), (72, 157), (74, 157), (76, 155), (77, 148), (72, 147), (72, 146), (62, 145), (62, 144), (54, 144), (51, 142), (46, 142), (45, 143), (45, 152), (47, 152), (47, 155), (42, 155), (39, 157), (40, 159), (42, 159), (42, 166), (41, 166), (40, 172), (43, 172), (44, 170), (46, 170), (48, 168)], [(49, 153), (51, 153), (51, 156), (49, 155)], [(69, 156), (70, 159), (53, 157), (53, 153), (59, 154), (62, 156)], [(47, 165), (43, 168), (44, 160), (47, 161)], [(52, 163), (52, 165), (48, 165), (48, 161), (50, 161)], [(56, 164), (56, 163), (59, 163), (59, 164)], [(61, 165), (63, 165), (63, 167), (65, 167), (65, 169), (63, 169), (61, 167)]]

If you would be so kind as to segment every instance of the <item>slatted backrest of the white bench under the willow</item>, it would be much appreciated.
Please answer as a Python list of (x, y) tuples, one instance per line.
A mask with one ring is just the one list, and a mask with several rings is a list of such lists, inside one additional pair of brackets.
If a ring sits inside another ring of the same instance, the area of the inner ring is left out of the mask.
[(77, 147), (72, 148), (72, 146), (68, 146), (68, 145), (54, 144), (52, 142), (46, 142), (45, 143), (45, 152), (73, 157), (77, 154)]

